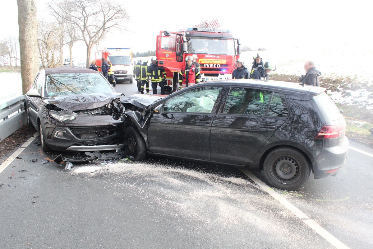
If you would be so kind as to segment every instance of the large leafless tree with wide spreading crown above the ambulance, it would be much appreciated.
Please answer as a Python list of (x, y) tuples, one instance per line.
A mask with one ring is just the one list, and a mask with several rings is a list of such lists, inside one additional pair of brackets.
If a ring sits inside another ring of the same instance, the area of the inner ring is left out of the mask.
[(60, 13), (56, 6), (48, 4), (52, 12), (80, 30), (87, 46), (86, 64), (90, 65), (91, 50), (112, 28), (126, 30), (124, 22), (129, 15), (119, 3), (105, 0), (64, 0), (65, 8)]

